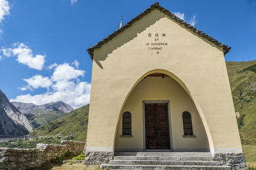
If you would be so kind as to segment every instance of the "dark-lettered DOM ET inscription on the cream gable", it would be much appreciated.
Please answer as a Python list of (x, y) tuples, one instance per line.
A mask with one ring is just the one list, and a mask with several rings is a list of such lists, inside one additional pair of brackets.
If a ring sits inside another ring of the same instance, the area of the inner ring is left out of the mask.
[(166, 38), (165, 33), (148, 33), (150, 42), (146, 43), (148, 50), (155, 50), (157, 54), (164, 49), (164, 46), (168, 46), (168, 43), (164, 42)]

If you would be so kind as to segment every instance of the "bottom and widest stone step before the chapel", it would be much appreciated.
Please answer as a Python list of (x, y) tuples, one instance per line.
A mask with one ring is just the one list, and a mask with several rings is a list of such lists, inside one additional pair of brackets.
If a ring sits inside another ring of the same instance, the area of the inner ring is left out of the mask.
[(102, 164), (100, 168), (104, 169), (156, 169), (156, 170), (166, 170), (166, 169), (174, 169), (174, 170), (196, 170), (196, 169), (204, 169), (204, 170), (231, 170), (230, 166), (159, 166), (159, 165), (109, 165)]

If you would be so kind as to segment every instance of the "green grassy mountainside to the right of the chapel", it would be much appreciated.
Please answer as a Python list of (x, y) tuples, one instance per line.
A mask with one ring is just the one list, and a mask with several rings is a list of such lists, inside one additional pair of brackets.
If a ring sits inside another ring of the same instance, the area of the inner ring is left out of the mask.
[(256, 146), (256, 60), (227, 62), (227, 69), (241, 141)]

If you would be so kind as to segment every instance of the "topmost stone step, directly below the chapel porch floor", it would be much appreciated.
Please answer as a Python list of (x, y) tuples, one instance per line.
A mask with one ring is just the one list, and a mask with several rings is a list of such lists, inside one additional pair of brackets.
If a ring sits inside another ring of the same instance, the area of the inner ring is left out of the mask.
[(211, 157), (210, 152), (115, 152), (115, 156), (198, 156)]

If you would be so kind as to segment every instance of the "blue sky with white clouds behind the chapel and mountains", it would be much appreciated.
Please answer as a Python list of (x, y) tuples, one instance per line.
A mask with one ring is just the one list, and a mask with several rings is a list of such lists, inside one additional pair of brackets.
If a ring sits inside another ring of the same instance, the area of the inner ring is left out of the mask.
[[(156, 1), (0, 0), (0, 89), (12, 101), (90, 99), (87, 48)], [(256, 59), (256, 1), (159, 1), (186, 22), (231, 46), (226, 60)]]

